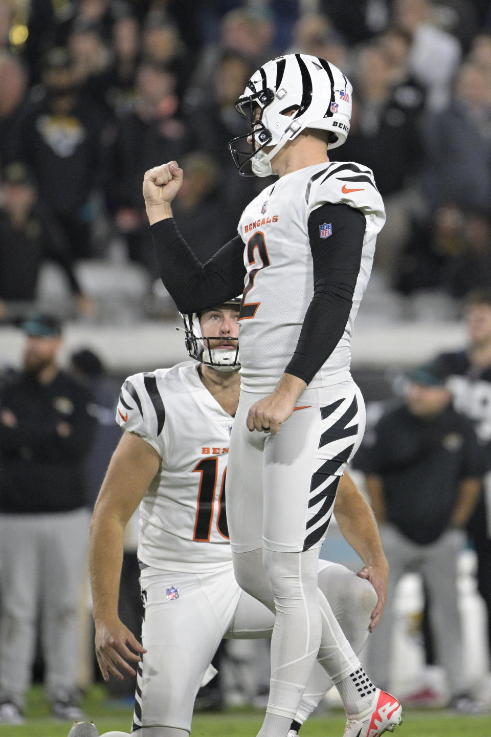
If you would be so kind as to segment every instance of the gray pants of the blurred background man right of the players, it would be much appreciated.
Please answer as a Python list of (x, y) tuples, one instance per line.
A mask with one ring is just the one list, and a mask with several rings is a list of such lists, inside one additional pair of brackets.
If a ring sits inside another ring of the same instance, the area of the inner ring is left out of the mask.
[(396, 586), (404, 573), (420, 573), (428, 588), (429, 619), (437, 662), (445, 668), (451, 696), (465, 690), (462, 673), (462, 632), (456, 585), (457, 558), (464, 545), (461, 531), (442, 534), (431, 545), (417, 545), (394, 525), (382, 525), (381, 537), (389, 561), (389, 594), (384, 614), (368, 638), (364, 660), (367, 673), (381, 688), (390, 686), (392, 625)]

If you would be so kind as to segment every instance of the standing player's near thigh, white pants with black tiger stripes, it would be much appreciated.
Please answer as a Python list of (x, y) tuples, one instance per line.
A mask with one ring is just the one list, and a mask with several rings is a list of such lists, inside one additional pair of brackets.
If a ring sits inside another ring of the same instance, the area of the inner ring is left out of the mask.
[(300, 552), (322, 545), (339, 478), (364, 432), (353, 380), (306, 389), (298, 409), (264, 444), (264, 546)]

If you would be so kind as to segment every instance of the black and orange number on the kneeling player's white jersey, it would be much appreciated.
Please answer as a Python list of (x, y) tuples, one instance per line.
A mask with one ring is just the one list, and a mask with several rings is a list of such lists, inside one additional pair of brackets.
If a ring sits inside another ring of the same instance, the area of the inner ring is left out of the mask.
[[(196, 520), (194, 522), (193, 539), (196, 542), (209, 542), (211, 534), (211, 522), (213, 520), (213, 507), (215, 506), (216, 477), (218, 473), (218, 458), (205, 458), (199, 461), (193, 471), (201, 474), (198, 490), (198, 506)], [(222, 537), (228, 539), (227, 515), (225, 514), (225, 475), (223, 472), (220, 494), (218, 497), (219, 512), (216, 526)]]

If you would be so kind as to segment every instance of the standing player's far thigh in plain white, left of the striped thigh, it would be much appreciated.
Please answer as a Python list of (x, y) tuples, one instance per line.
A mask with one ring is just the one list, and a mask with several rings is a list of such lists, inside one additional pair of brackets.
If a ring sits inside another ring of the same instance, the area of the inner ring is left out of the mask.
[(247, 413), (263, 394), (241, 391), (227, 463), (227, 524), (230, 545), (239, 553), (262, 547), (264, 433), (247, 430)]

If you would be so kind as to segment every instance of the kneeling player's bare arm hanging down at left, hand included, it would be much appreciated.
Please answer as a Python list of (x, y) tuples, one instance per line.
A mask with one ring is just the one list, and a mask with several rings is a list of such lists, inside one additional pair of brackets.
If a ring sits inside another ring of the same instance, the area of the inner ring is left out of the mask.
[[(120, 668), (134, 675), (126, 662), (145, 652), (118, 616), (119, 580), (124, 528), (158, 472), (160, 456), (146, 441), (124, 432), (113, 453), (91, 521), (90, 567), (96, 655), (104, 680), (109, 673), (122, 680)], [(124, 660), (126, 659), (126, 660)]]

